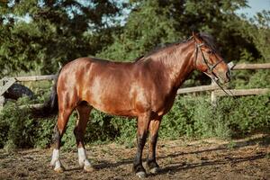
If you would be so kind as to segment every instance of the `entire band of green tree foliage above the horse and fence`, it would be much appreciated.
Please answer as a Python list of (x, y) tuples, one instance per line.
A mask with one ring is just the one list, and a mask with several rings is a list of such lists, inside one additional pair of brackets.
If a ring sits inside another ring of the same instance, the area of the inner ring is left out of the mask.
[(243, 7), (247, 0), (9, 0), (0, 6), (1, 75), (55, 73), (58, 62), (85, 56), (132, 60), (192, 31), (211, 33), (225, 59), (266, 61), (270, 13), (250, 21), (236, 14)]

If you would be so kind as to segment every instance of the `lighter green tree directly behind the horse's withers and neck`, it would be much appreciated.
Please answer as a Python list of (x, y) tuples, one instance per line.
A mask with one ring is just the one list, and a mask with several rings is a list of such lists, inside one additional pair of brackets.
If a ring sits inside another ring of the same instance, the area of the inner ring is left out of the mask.
[(112, 46), (103, 49), (97, 56), (128, 61), (146, 53), (159, 43), (178, 40), (169, 9), (157, 1), (130, 3), (131, 13), (121, 34), (115, 34)]

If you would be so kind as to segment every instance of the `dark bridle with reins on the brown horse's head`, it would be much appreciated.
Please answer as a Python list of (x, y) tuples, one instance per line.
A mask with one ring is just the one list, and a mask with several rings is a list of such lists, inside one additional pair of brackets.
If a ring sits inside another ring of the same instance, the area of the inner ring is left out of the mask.
[[(198, 44), (197, 42), (195, 42), (195, 50), (196, 50), (196, 51), (195, 51), (195, 61), (194, 61), (195, 67), (197, 67), (196, 65), (197, 65), (198, 52), (200, 52), (200, 53), (202, 54), (202, 60), (203, 60), (204, 64), (206, 65), (207, 70), (208, 70), (208, 73), (210, 73), (210, 75), (207, 74), (206, 72), (203, 72), (203, 73), (204, 73), (205, 75), (207, 75), (207, 76), (210, 76), (210, 77), (211, 77), (211, 80), (212, 80), (213, 82), (215, 82), (215, 84), (219, 85), (220, 89), (221, 89), (224, 93), (228, 94), (227, 91), (225, 91), (224, 88), (220, 85), (220, 83), (219, 83), (219, 77), (216, 76), (216, 75), (214, 74), (214, 72), (213, 72), (213, 69), (214, 69), (215, 67), (217, 67), (217, 66), (220, 64), (220, 62), (223, 62), (223, 60), (220, 59), (218, 62), (216, 62), (215, 64), (211, 65), (211, 64), (209, 63), (209, 60), (207, 60), (207, 58), (205, 58), (204, 55), (203, 55), (203, 52), (202, 52), (202, 49), (201, 49), (201, 47), (202, 47), (203, 45), (205, 45), (205, 44), (204, 44), (204, 43)], [(230, 92), (230, 91), (229, 91), (229, 92)], [(230, 94), (228, 94), (228, 95), (229, 95), (229, 96), (233, 96), (233, 94), (231, 94), (231, 92), (230, 92)]]

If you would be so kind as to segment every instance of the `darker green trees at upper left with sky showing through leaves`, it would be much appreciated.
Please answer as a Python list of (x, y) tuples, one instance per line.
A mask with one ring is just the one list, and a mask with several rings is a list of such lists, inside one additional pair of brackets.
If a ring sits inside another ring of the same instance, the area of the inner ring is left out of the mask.
[(40, 68), (55, 73), (58, 62), (94, 55), (112, 43), (119, 3), (110, 0), (7, 1), (0, 7), (2, 75)]

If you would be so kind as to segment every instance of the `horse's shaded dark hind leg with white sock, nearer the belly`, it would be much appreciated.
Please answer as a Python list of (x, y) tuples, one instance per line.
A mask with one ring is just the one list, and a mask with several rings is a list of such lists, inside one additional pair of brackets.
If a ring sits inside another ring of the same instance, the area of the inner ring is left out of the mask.
[(84, 167), (85, 171), (87, 172), (94, 171), (94, 167), (87, 159), (84, 144), (86, 124), (89, 120), (89, 115), (92, 109), (93, 108), (89, 106), (86, 102), (82, 102), (76, 107), (76, 111), (78, 112), (78, 119), (76, 121), (76, 127), (74, 129), (78, 153), (78, 162), (79, 165)]

